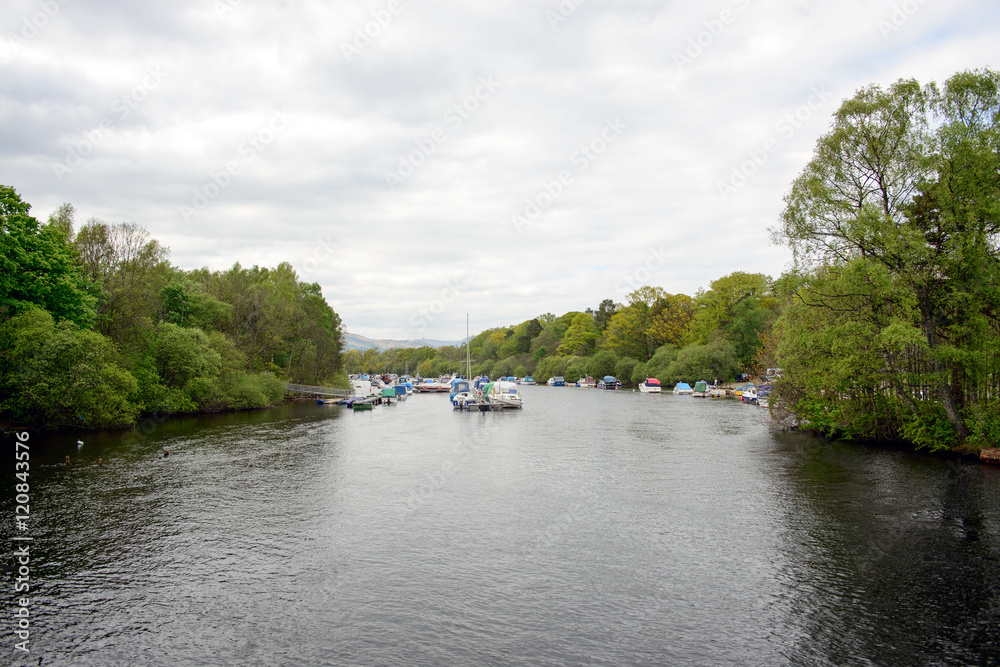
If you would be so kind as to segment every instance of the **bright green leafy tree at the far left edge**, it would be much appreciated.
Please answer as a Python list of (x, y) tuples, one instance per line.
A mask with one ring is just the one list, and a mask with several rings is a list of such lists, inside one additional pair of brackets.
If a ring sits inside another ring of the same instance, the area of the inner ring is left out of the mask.
[(30, 210), (14, 188), (0, 185), (0, 319), (38, 306), (57, 319), (90, 326), (94, 295), (65, 229), (60, 223), (40, 225)]

